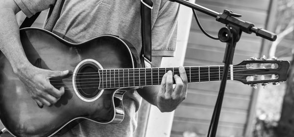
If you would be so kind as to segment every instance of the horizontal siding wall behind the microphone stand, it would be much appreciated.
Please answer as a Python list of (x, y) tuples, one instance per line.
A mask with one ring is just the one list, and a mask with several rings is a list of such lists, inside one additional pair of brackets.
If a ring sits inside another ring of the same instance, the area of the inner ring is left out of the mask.
[[(265, 27), (270, 0), (196, 0), (204, 7), (222, 12), (231, 9), (242, 14), (241, 20), (257, 27)], [(214, 18), (196, 12), (203, 28), (217, 36), (224, 25)], [(262, 39), (254, 34), (242, 34), (237, 43), (233, 64), (250, 57), (258, 57)], [(222, 65), (225, 43), (206, 37), (193, 18), (184, 66)], [(189, 84), (188, 95), (176, 109), (171, 137), (183, 137), (184, 132), (195, 132), (206, 137), (218, 96), (220, 82)], [(243, 137), (248, 118), (252, 88), (239, 81), (228, 81), (222, 104), (217, 137)]]

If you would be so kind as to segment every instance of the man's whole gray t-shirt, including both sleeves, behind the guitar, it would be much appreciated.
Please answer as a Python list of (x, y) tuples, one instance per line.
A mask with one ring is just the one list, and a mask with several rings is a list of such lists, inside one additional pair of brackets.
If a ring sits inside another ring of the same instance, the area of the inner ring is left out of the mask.
[[(178, 4), (152, 0), (152, 56), (173, 56), (176, 44)], [(83, 42), (103, 34), (120, 36), (131, 42), (140, 54), (140, 0), (15, 0), (30, 17), (48, 9), (45, 29), (70, 42)], [(98, 124), (84, 120), (64, 137), (132, 137), (137, 126), (137, 110), (142, 98), (128, 91), (123, 98), (125, 117), (120, 124)]]

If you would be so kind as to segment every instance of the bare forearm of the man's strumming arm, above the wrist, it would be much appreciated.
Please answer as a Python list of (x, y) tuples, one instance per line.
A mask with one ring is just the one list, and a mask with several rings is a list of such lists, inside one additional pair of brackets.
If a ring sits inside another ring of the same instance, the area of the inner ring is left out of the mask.
[(15, 17), (20, 9), (13, 5), (15, 3), (9, 2), (0, 2), (0, 50), (9, 60), (13, 71), (17, 72), (19, 68), (29, 65), (29, 62), (20, 41), (19, 25)]

